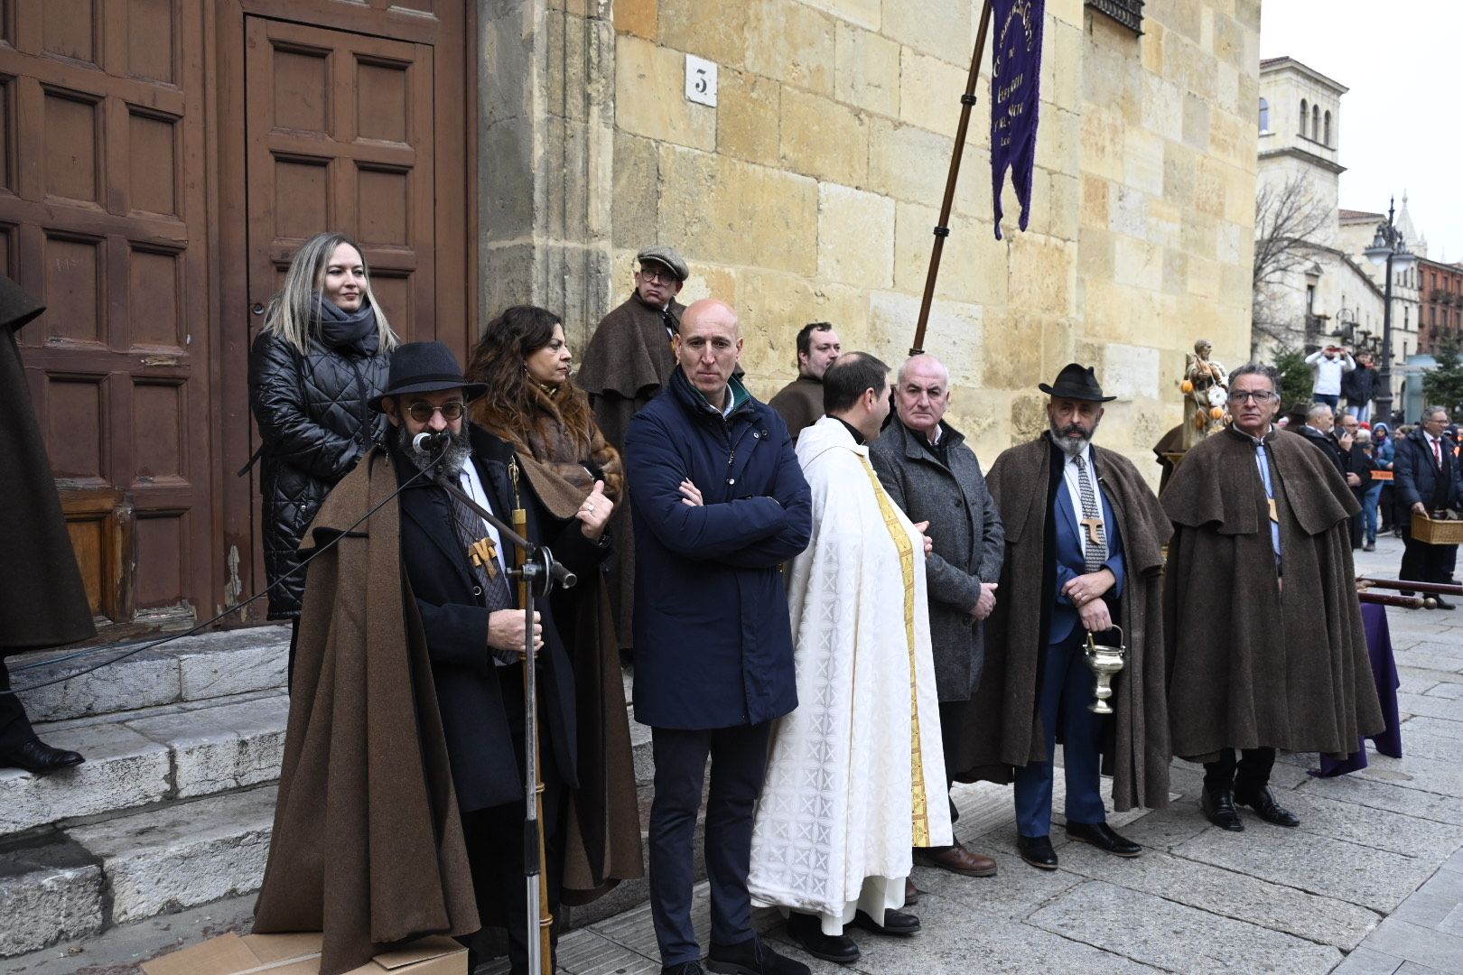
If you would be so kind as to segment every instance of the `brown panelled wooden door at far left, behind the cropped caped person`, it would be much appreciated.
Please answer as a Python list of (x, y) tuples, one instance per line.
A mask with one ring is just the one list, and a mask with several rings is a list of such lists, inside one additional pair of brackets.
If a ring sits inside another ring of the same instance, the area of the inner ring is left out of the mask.
[(47, 304), (26, 377), (92, 608), (117, 621), (211, 602), (202, 50), (186, 0), (0, 4), (0, 266)]

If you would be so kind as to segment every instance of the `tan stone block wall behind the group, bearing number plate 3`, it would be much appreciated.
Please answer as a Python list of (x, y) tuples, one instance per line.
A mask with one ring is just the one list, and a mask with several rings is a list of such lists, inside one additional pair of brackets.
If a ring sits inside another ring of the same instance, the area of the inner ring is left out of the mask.
[[(903, 358), (979, 1), (930, 0), (917, 15), (903, 0), (487, 6), (508, 9), (518, 32), (499, 35), (512, 41), (546, 31), (546, 19), (566, 25), (562, 54), (528, 41), (537, 83), (563, 92), (531, 94), (512, 123), (518, 137), (531, 133), (531, 151), (508, 156), (534, 174), (516, 177), (531, 202), (486, 200), (486, 224), (499, 206), (516, 227), (484, 229), (503, 273), (527, 273), (533, 294), (581, 316), (571, 336), (629, 294), (633, 253), (660, 241), (692, 266), (683, 298), (714, 294), (740, 311), (758, 395), (791, 379), (793, 336), (815, 319), (837, 323), (844, 348)], [(606, 19), (613, 51), (571, 58), (584, 25), (600, 38), (593, 25)], [(925, 348), (949, 364), (951, 420), (986, 463), (1042, 428), (1036, 384), (1072, 358), (1096, 364), (1121, 396), (1103, 443), (1146, 459), (1179, 420), (1184, 349), (1204, 336), (1220, 361), (1244, 358), (1258, 26), (1258, 0), (1150, 3), (1141, 37), (1081, 0), (1049, 0), (1033, 215), (1018, 232), (1008, 189), (1005, 241), (992, 232), (982, 77)], [(715, 108), (685, 99), (688, 53), (718, 64)], [(612, 85), (575, 73), (610, 61)], [(584, 152), (569, 148), (578, 136)], [(606, 224), (594, 178), (606, 180)], [(556, 222), (560, 208), (572, 219)], [(575, 291), (594, 287), (593, 297)]]

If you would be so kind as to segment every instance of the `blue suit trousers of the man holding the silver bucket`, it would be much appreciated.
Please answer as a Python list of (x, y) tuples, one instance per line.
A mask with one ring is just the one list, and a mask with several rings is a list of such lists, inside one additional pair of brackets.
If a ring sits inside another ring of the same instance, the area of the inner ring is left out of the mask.
[(1021, 836), (1048, 836), (1052, 832), (1052, 756), (1056, 751), (1058, 718), (1067, 773), (1067, 820), (1107, 820), (1099, 792), (1102, 715), (1087, 710), (1094, 699), (1093, 672), (1083, 661), (1086, 645), (1087, 630), (1075, 627), (1065, 640), (1046, 648), (1040, 688), (1046, 762), (1031, 762), (1015, 770), (1015, 823)]

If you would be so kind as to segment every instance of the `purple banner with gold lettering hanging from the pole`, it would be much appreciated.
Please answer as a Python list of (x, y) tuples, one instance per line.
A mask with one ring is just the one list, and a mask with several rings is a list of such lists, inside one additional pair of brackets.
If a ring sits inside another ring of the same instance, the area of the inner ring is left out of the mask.
[(996, 240), (1001, 240), (1001, 190), (1005, 171), (1021, 203), (1021, 229), (1031, 219), (1036, 167), (1036, 111), (1040, 105), (1042, 20), (1046, 0), (992, 0), (995, 51), (990, 70), (990, 183)]

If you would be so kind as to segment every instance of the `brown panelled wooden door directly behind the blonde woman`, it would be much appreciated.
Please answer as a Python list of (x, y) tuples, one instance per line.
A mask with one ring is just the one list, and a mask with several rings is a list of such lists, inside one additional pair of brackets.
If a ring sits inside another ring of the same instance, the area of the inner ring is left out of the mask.
[[(471, 9), (439, 0), (215, 0), (222, 455), (257, 446), (247, 355), (298, 246), (361, 243), (407, 341), (475, 338)], [(236, 260), (237, 259), (237, 263)], [(222, 484), (225, 602), (265, 585), (257, 468)], [(259, 618), (256, 604), (249, 618)]]

